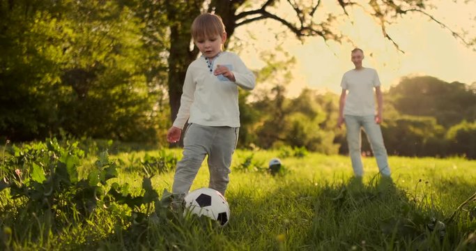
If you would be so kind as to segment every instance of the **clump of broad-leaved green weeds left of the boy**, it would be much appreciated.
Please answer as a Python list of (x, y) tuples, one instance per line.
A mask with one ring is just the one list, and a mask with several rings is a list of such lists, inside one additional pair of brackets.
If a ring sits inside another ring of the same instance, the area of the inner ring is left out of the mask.
[[(45, 240), (51, 231), (58, 232), (68, 225), (95, 218), (100, 208), (121, 215), (117, 220), (132, 227), (132, 232), (138, 231), (136, 234), (140, 236), (144, 227), (153, 222), (151, 219), (167, 218), (171, 194), (164, 190), (160, 199), (153, 189), (151, 176), (143, 178), (141, 195), (132, 195), (128, 183), (114, 182), (108, 190), (107, 181), (116, 178), (118, 173), (116, 161), (109, 160), (107, 151), (100, 153), (89, 174), (80, 178), (78, 167), (84, 152), (77, 144), (61, 145), (56, 139), (47, 139), (45, 143), (12, 147), (10, 157), (4, 158), (2, 164), (8, 175), (0, 182), (0, 192), (9, 190), (10, 199), (17, 201), (17, 209), (11, 213), (16, 220), (9, 224), (0, 222), (4, 230), (10, 229), (13, 236), (22, 238), (39, 233), (35, 238)], [(149, 167), (153, 167), (151, 163), (160, 167), (149, 172), (162, 173), (175, 166), (176, 158), (162, 151), (160, 158), (146, 158), (146, 163)], [(38, 224), (30, 224), (31, 217), (36, 218)], [(0, 245), (6, 247), (10, 242), (8, 236), (1, 236)]]

